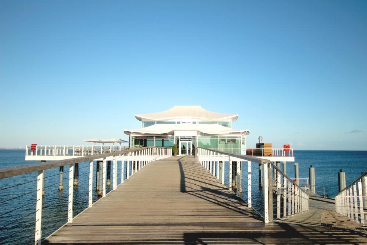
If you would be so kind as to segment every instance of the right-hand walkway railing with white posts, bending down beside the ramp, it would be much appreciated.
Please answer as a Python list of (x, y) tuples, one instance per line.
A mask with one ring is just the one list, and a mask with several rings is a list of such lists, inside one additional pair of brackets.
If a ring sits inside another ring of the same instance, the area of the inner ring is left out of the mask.
[[(238, 197), (264, 217), (265, 223), (309, 209), (309, 195), (271, 161), (203, 147), (196, 151), (197, 161), (229, 190), (235, 190)], [(255, 182), (259, 189), (254, 188)], [(252, 198), (255, 192), (260, 201)]]

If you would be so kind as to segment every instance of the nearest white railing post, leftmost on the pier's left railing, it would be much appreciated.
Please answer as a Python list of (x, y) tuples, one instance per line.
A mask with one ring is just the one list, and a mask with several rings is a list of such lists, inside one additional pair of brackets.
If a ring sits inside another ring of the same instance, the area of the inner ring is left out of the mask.
[(36, 197), (36, 227), (34, 232), (34, 244), (40, 245), (42, 239), (42, 189), (43, 171), (37, 173), (37, 197)]

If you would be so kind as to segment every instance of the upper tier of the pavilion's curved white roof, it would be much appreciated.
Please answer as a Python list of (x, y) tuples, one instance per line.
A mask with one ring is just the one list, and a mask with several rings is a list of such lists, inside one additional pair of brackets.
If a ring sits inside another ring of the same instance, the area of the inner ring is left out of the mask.
[(167, 121), (179, 118), (192, 118), (202, 121), (236, 121), (238, 114), (224, 114), (207, 111), (199, 105), (176, 105), (167, 111), (156, 112), (151, 114), (136, 114), (135, 118), (138, 120), (147, 121)]

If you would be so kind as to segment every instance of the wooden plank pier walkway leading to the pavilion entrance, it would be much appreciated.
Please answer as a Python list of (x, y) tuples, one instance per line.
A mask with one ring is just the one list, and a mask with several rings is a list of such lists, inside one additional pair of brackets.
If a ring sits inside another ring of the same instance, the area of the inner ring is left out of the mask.
[(262, 220), (193, 157), (173, 156), (146, 165), (42, 244), (367, 244), (356, 230)]

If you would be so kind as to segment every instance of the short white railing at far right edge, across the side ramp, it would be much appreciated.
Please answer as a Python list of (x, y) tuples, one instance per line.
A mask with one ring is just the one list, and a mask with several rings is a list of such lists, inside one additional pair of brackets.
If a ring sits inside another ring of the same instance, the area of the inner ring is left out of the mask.
[(367, 224), (367, 172), (358, 177), (335, 196), (335, 211)]

